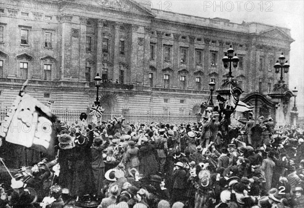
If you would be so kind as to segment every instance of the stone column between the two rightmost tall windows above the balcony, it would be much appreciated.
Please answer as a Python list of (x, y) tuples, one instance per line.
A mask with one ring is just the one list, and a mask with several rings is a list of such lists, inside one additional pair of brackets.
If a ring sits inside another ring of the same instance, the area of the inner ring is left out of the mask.
[(109, 72), (110, 79), (113, 81), (119, 80), (119, 73), (120, 73), (120, 27), (123, 23), (116, 22), (114, 26), (114, 53), (113, 53), (113, 71)]

